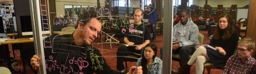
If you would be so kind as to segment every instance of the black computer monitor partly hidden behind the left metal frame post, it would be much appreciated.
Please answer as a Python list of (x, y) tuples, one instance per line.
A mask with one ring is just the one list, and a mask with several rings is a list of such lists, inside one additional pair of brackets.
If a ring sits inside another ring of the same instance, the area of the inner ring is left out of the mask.
[[(43, 18), (46, 19), (46, 17), (43, 17)], [(45, 22), (47, 22), (47, 21), (44, 20), (44, 23)], [(30, 15), (20, 16), (20, 24), (21, 24), (22, 35), (33, 35), (32, 22), (31, 22)], [(43, 21), (41, 20), (42, 34), (50, 33), (49, 29), (45, 29), (45, 28), (49, 28), (47, 25), (48, 24), (43, 24)]]

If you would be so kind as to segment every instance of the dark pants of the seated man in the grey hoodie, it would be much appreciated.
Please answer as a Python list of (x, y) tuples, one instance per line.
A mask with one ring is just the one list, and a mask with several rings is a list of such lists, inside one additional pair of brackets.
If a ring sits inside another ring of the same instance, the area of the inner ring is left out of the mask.
[[(195, 47), (183, 46), (176, 50), (172, 50), (172, 54), (180, 54), (180, 66), (184, 64), (184, 62), (189, 60), (189, 56), (191, 56), (195, 52)], [(163, 60), (163, 48), (160, 49), (161, 59)]]

